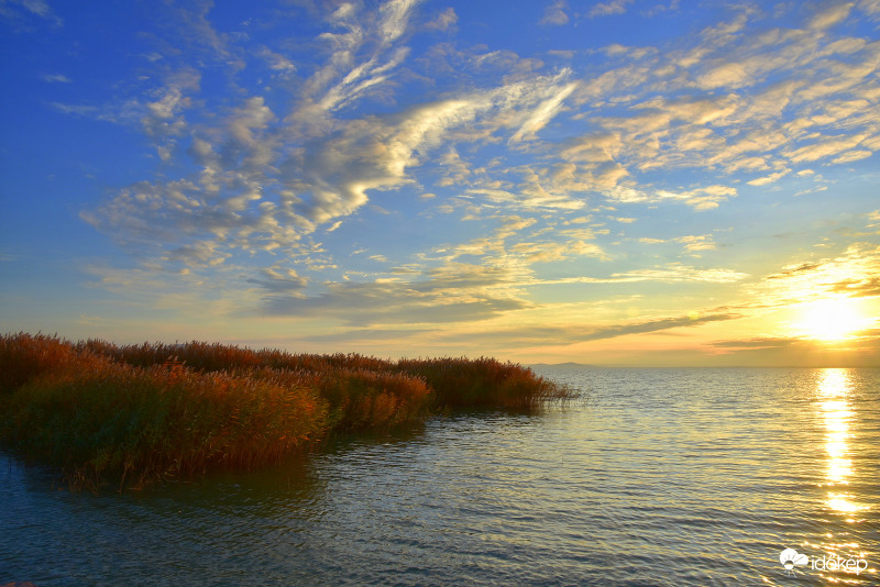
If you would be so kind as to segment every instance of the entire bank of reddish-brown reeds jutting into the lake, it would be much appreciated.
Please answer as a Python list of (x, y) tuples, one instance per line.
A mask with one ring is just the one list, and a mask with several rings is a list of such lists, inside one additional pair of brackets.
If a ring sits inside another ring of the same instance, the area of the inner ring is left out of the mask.
[(0, 336), (0, 447), (72, 489), (254, 469), (337, 433), (462, 409), (534, 411), (578, 394), (494, 358), (292, 354), (219, 343)]

